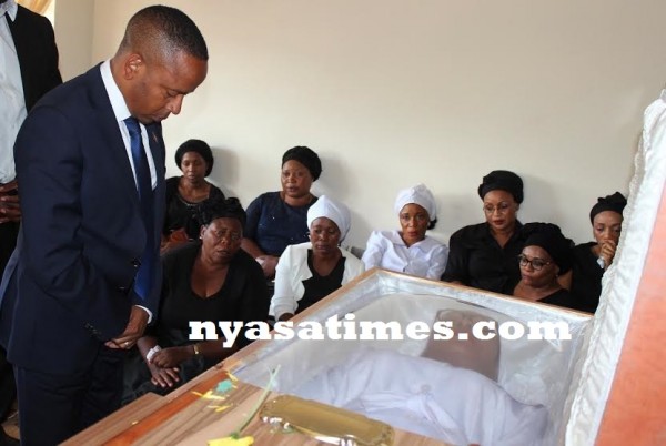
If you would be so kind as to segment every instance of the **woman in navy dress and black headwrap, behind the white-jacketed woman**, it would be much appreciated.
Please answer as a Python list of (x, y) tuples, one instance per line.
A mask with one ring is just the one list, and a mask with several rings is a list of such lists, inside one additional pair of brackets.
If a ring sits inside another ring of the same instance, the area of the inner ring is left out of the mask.
[(286, 246), (307, 242), (307, 210), (316, 202), (310, 187), (321, 173), (314, 151), (292, 148), (282, 156), (282, 191), (266, 192), (250, 203), (242, 247), (261, 264), (266, 278), (275, 276)]

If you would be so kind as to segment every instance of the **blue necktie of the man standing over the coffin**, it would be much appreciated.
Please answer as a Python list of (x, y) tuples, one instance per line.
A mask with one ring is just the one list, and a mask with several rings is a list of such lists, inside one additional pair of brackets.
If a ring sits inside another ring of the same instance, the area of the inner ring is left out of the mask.
[(141, 216), (145, 226), (145, 249), (141, 255), (141, 265), (134, 280), (134, 291), (142, 298), (147, 300), (152, 286), (152, 272), (155, 265), (154, 227), (153, 227), (153, 191), (150, 178), (150, 168), (148, 158), (141, 140), (141, 126), (134, 118), (128, 118), (124, 123), (130, 132), (130, 148), (132, 151), (132, 161), (134, 163), (134, 173), (137, 175), (137, 189), (141, 201)]

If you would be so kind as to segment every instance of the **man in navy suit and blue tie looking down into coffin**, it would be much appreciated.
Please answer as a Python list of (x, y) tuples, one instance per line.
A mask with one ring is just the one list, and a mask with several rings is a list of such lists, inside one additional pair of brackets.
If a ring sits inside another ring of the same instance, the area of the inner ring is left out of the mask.
[(111, 60), (44, 95), (19, 131), (22, 222), (0, 342), (24, 445), (60, 443), (120, 406), (124, 354), (158, 308), (161, 121), (206, 71), (194, 22), (149, 7)]

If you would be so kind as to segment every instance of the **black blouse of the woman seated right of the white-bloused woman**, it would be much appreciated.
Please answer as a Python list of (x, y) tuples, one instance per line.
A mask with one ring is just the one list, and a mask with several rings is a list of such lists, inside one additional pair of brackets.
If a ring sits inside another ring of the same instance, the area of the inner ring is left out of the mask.
[(521, 281), (518, 254), (525, 243), (522, 227), (521, 222), (516, 221), (514, 234), (504, 247), (493, 237), (487, 223), (456, 231), (448, 242), (448, 261), (442, 280), (512, 294)]

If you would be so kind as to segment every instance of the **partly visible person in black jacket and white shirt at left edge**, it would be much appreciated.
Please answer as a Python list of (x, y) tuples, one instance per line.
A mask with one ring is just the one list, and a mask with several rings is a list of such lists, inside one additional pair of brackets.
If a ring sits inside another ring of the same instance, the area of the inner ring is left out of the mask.
[[(13, 143), (27, 113), (47, 91), (62, 83), (51, 22), (14, 0), (0, 0), (0, 276), (17, 244), (21, 210)], [(16, 397), (11, 365), (0, 347), (0, 422)], [(16, 444), (17, 442), (13, 442)], [(0, 428), (0, 445), (12, 444)]]

